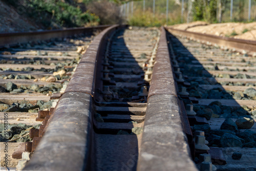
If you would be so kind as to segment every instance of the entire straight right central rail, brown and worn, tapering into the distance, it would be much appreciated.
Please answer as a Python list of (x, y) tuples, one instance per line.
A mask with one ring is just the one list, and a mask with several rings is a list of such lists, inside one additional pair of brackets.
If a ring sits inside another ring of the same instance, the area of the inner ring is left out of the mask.
[[(148, 95), (138, 170), (198, 170), (190, 158), (169, 57), (166, 31), (162, 27)], [(161, 70), (165, 72), (161, 74)]]

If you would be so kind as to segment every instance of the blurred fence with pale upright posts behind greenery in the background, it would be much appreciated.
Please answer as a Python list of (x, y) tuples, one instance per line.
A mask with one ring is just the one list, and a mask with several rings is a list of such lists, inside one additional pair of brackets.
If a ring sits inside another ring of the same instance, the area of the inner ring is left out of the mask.
[[(142, 0), (131, 1), (120, 6), (121, 15), (127, 20), (140, 18), (161, 24), (189, 23), (195, 20), (197, 0)], [(256, 17), (254, 0), (201, 0), (215, 1), (216, 19), (214, 22), (252, 22)], [(221, 3), (221, 7), (219, 6)], [(219, 9), (221, 9), (221, 16)], [(221, 18), (220, 18), (221, 17)], [(154, 24), (151, 24), (151, 26)], [(156, 25), (157, 26), (157, 25)]]

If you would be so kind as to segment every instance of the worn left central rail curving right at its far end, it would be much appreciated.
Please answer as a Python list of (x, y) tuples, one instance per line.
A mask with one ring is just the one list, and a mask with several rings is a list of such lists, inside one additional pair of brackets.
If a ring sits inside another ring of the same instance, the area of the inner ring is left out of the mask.
[[(94, 78), (98, 52), (114, 25), (97, 35), (83, 55), (47, 130), (24, 170), (84, 170), (90, 168)], [(88, 65), (85, 65), (87, 63)], [(84, 73), (77, 74), (83, 70)], [(88, 73), (87, 73), (88, 72)], [(92, 76), (90, 76), (92, 75)], [(78, 77), (78, 78), (77, 78)], [(86, 87), (82, 89), (82, 87)], [(83, 129), (82, 129), (83, 128)]]

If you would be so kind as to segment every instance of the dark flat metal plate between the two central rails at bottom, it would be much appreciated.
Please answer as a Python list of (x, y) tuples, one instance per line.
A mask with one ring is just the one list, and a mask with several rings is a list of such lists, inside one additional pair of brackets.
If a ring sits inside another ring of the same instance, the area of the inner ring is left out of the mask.
[(95, 158), (101, 162), (93, 170), (136, 170), (139, 153), (136, 135), (96, 134), (95, 145)]

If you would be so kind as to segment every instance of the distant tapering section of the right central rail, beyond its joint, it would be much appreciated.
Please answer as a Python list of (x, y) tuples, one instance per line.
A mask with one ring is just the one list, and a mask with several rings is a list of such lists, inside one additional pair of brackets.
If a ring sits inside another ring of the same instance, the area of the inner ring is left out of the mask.
[(177, 96), (172, 63), (170, 62), (166, 42), (166, 32), (162, 27), (148, 98), (157, 94), (172, 94)]

